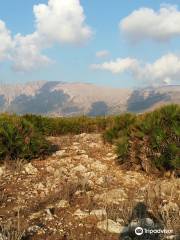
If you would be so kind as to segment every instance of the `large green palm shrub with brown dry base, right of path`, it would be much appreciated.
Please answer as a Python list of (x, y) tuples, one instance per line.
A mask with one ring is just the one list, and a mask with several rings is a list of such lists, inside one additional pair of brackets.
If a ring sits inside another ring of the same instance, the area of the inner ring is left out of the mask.
[[(115, 143), (122, 162), (131, 152), (139, 159), (140, 149), (160, 170), (180, 168), (180, 106), (168, 105), (143, 115), (125, 114), (115, 118), (104, 138)], [(133, 144), (134, 143), (134, 144)]]

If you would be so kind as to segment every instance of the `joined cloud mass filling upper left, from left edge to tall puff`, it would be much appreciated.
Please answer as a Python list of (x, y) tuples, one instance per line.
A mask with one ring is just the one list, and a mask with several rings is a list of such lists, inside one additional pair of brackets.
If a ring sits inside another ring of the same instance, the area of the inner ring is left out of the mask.
[(52, 61), (42, 51), (56, 43), (77, 44), (88, 40), (91, 28), (79, 0), (49, 0), (33, 8), (35, 31), (32, 34), (11, 36), (0, 21), (0, 60), (9, 59), (15, 71), (30, 71)]

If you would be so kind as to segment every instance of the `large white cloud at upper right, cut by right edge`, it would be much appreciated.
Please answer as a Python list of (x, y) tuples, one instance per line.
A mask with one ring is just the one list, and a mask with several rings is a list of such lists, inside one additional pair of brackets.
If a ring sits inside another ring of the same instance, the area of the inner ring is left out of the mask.
[(162, 5), (159, 11), (140, 8), (124, 18), (119, 27), (131, 42), (168, 41), (180, 36), (180, 11), (172, 5)]

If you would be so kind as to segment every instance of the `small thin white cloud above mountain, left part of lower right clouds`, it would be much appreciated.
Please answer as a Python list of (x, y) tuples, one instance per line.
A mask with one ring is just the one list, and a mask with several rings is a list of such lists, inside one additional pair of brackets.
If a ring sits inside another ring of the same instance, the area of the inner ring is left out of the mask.
[(118, 58), (115, 61), (104, 62), (102, 64), (91, 65), (92, 69), (108, 70), (113, 74), (123, 73), (127, 70), (132, 70), (137, 65), (137, 60), (132, 58)]

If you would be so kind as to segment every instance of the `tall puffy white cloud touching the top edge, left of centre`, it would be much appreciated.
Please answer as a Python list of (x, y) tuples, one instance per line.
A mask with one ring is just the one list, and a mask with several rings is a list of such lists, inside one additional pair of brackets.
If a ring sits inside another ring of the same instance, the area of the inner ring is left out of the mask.
[(37, 31), (52, 42), (79, 43), (91, 37), (79, 0), (49, 0), (34, 6)]

